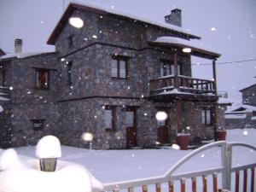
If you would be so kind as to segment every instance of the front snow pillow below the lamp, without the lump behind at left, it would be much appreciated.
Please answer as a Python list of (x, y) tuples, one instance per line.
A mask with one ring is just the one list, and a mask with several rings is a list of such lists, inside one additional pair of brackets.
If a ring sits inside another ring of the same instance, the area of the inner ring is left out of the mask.
[(103, 185), (83, 166), (64, 166), (55, 172), (19, 166), (0, 172), (1, 192), (91, 192)]

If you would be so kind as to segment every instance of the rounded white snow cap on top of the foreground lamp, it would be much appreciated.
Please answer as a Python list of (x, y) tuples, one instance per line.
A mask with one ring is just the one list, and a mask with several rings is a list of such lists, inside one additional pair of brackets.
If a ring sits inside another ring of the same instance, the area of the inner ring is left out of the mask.
[(44, 158), (60, 158), (61, 143), (55, 136), (45, 136), (38, 142), (36, 148), (36, 156), (40, 159)]

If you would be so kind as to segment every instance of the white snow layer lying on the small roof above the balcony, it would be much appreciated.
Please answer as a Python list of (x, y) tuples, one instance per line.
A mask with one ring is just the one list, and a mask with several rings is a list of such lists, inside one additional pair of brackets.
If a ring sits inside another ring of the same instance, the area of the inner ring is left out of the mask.
[[(186, 40), (183, 38), (173, 38), (173, 37), (160, 37), (154, 40), (154, 43), (167, 43), (167, 44), (177, 44), (183, 45), (185, 47), (194, 48), (194, 49), (201, 49), (207, 52), (218, 54), (215, 50), (209, 49), (203, 46), (198, 40)], [(220, 55), (220, 54), (218, 54)]]

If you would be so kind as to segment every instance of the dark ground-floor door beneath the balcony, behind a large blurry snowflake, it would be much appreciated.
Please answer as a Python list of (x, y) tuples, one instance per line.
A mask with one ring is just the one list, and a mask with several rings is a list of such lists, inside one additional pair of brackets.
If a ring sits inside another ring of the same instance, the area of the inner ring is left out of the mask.
[(157, 136), (158, 136), (158, 142), (160, 144), (169, 143), (168, 121), (169, 121), (168, 118), (166, 120), (157, 120)]

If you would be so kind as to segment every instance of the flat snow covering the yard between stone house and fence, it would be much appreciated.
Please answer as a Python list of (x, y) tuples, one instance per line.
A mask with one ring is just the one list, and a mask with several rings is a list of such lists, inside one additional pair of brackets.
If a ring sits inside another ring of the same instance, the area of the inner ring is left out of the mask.
[[(256, 146), (255, 129), (237, 129), (227, 132), (228, 142), (249, 143)], [(177, 160), (191, 152), (191, 150), (181, 151), (173, 148), (133, 150), (88, 150), (67, 146), (61, 146), (61, 148), (61, 160), (85, 166), (102, 183), (162, 175)], [(35, 158), (34, 146), (15, 149), (18, 154)], [(233, 157), (233, 166), (256, 162), (256, 152), (248, 148), (234, 148)], [(221, 148), (212, 148), (189, 160), (189, 163), (185, 164), (179, 171), (198, 171), (220, 166), (220, 158)]]

